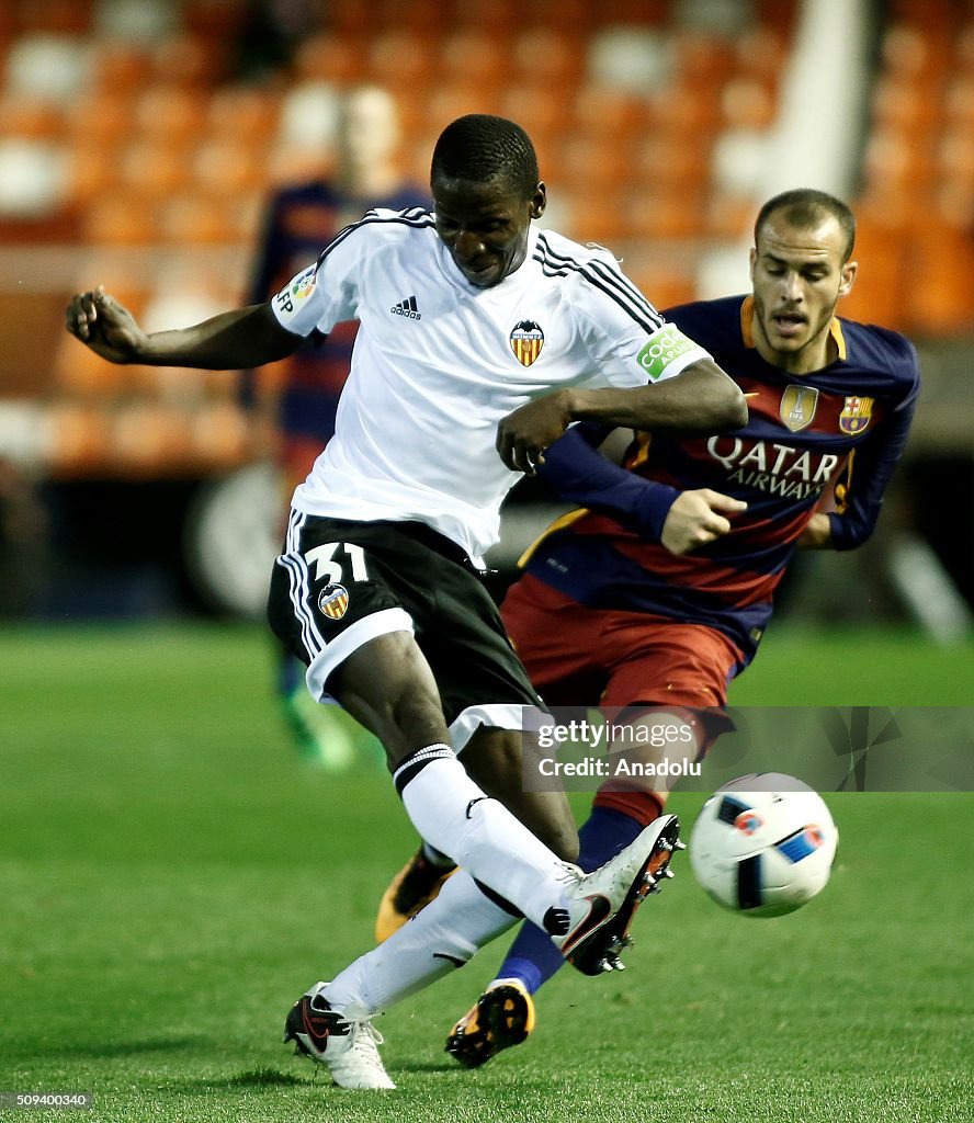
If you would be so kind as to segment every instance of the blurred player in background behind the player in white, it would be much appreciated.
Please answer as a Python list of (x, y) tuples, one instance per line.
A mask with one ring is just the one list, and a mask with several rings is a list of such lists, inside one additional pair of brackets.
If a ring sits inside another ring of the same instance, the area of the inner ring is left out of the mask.
[[(339, 230), (373, 207), (403, 210), (428, 207), (429, 192), (407, 182), (399, 166), (401, 146), (395, 99), (376, 85), (338, 94), (334, 167), (302, 183), (288, 184), (268, 201), (254, 262), (248, 303), (262, 303), (315, 261)], [(318, 343), (307, 340), (276, 364), (273, 377), (246, 371), (240, 396), (248, 409), (271, 413), (276, 432), (281, 494), (290, 499), (335, 432), (335, 411), (352, 358), (357, 325), (338, 323)], [(283, 523), (280, 535), (283, 535)], [(375, 739), (339, 706), (316, 703), (304, 686), (304, 667), (283, 648), (276, 691), (301, 752), (340, 772), (357, 755), (383, 759)]]

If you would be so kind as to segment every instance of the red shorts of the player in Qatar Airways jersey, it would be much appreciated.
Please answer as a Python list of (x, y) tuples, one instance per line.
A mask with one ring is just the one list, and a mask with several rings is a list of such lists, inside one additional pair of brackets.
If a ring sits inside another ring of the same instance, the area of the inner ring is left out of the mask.
[[(525, 574), (501, 617), (535, 688), (549, 706), (666, 706), (708, 711), (698, 759), (729, 719), (727, 687), (744, 655), (723, 632), (646, 612), (592, 609)], [(595, 804), (644, 825), (663, 809), (664, 791), (645, 782), (607, 782)]]

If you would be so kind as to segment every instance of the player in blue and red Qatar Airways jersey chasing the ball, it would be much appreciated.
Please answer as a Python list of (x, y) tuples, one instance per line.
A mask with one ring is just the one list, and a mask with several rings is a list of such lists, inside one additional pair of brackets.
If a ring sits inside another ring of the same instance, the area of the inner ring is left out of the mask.
[[(638, 435), (625, 469), (593, 453), (601, 431), (586, 423), (549, 450), (543, 475), (582, 509), (522, 559), (502, 605), (548, 705), (648, 707), (646, 722), (692, 722), (700, 759), (794, 550), (854, 549), (872, 533), (919, 372), (903, 336), (836, 316), (855, 280), (854, 236), (839, 200), (804, 189), (776, 195), (757, 216), (752, 294), (666, 313), (747, 395), (746, 426), (692, 439)], [(580, 831), (582, 867), (659, 815), (666, 784), (606, 782)], [(444, 873), (420, 855), (398, 882), (417, 892)], [(380, 920), (380, 938), (400, 922), (394, 892)], [(559, 966), (526, 924), (448, 1051), (476, 1067), (522, 1041), (531, 995)]]

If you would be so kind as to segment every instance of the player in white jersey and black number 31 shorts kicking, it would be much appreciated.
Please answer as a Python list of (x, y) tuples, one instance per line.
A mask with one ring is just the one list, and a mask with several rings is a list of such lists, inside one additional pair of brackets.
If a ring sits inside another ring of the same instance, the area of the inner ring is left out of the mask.
[(564, 793), (522, 789), (521, 730), (540, 700), (479, 577), (504, 495), (575, 420), (671, 432), (746, 420), (737, 386), (608, 253), (532, 227), (545, 186), (519, 126), (447, 126), (431, 190), (435, 212), (371, 211), (266, 304), (153, 334), (102, 289), (67, 309), (69, 330), (111, 362), (210, 369), (271, 363), (359, 321), (268, 615), (315, 697), (382, 741), (413, 825), (459, 871), (290, 1012), (285, 1040), (345, 1087), (393, 1087), (371, 1019), (519, 915), (583, 973), (612, 966), (679, 844), (664, 815), (582, 876)]

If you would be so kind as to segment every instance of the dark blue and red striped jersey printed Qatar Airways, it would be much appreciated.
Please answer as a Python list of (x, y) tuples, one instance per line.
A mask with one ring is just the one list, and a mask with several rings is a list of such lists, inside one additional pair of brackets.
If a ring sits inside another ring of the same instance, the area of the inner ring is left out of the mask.
[[(916, 350), (894, 331), (835, 318), (836, 359), (791, 375), (754, 346), (750, 296), (699, 301), (664, 314), (740, 386), (749, 419), (711, 437), (641, 433), (626, 467), (661, 487), (709, 487), (741, 499), (747, 511), (731, 515), (728, 535), (685, 556), (625, 519), (594, 509), (573, 512), (549, 529), (526, 569), (590, 606), (717, 628), (749, 659), (812, 513), (829, 512), (837, 549), (859, 546), (872, 532), (913, 414)], [(561, 485), (558, 457), (548, 459), (547, 483), (577, 499)]]

